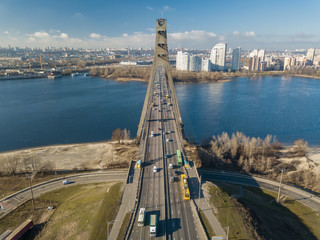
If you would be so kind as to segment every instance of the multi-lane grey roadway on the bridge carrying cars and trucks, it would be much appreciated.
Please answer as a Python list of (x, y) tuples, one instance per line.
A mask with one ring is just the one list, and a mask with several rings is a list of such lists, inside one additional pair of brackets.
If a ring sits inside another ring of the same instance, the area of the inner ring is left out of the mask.
[[(194, 227), (194, 219), (189, 201), (182, 199), (179, 175), (175, 176), (174, 182), (169, 181), (175, 171), (183, 172), (182, 167), (177, 166), (176, 150), (179, 136), (176, 129), (174, 106), (167, 106), (171, 98), (168, 89), (166, 75), (163, 68), (158, 68), (155, 74), (158, 86), (153, 85), (152, 98), (149, 103), (150, 114), (147, 133), (146, 161), (143, 163), (144, 176), (142, 179), (142, 192), (138, 210), (146, 209), (145, 226), (138, 226), (138, 217), (129, 239), (150, 239), (150, 215), (158, 216), (158, 239), (192, 239), (198, 238)], [(154, 94), (155, 93), (155, 94)], [(151, 107), (154, 103), (154, 107)], [(151, 137), (151, 131), (154, 137)], [(167, 139), (169, 141), (167, 141)], [(167, 158), (165, 158), (167, 155)], [(169, 163), (174, 169), (168, 169)], [(154, 166), (157, 172), (154, 172)], [(167, 215), (167, 216), (166, 216)], [(138, 214), (137, 214), (138, 216)]]

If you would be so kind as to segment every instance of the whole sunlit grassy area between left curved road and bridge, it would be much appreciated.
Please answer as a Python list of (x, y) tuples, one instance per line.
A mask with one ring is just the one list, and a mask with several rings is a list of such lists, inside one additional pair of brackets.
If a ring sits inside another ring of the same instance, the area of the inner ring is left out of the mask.
[[(59, 207), (36, 239), (90, 239), (92, 233), (96, 234), (97, 223), (103, 220), (107, 224), (109, 212), (113, 216), (117, 211), (114, 205), (106, 204), (106, 199), (114, 198), (111, 202), (119, 204), (115, 192), (119, 191), (121, 196), (122, 183), (112, 184), (68, 185), (41, 196), (43, 200), (55, 201)], [(107, 227), (103, 230), (104, 236), (95, 235), (95, 239), (106, 238)]]

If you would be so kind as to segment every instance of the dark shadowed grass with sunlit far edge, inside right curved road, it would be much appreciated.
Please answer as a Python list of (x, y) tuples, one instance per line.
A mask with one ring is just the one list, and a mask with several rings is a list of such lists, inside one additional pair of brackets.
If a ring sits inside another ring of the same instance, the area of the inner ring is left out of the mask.
[[(224, 192), (220, 195), (237, 195), (238, 200), (233, 199), (233, 203), (238, 202), (238, 204), (234, 205), (234, 208), (238, 210), (238, 214), (241, 216), (245, 213), (241, 205), (245, 207), (245, 211), (250, 213), (250, 218), (253, 218), (252, 227), (256, 229), (260, 236), (267, 239), (319, 238), (317, 226), (320, 224), (320, 219), (319, 217), (316, 218), (315, 213), (302, 204), (291, 200), (284, 203), (284, 205), (278, 204), (275, 201), (276, 193), (255, 187), (243, 186), (239, 190), (240, 186), (237, 185), (219, 184), (219, 186), (220, 191)], [(218, 209), (219, 211), (223, 210), (223, 208)], [(229, 222), (230, 219), (236, 218), (232, 215), (232, 217), (229, 217)], [(239, 227), (230, 227), (230, 235), (235, 231), (233, 229), (239, 229)], [(250, 237), (249, 239), (255, 238)]]

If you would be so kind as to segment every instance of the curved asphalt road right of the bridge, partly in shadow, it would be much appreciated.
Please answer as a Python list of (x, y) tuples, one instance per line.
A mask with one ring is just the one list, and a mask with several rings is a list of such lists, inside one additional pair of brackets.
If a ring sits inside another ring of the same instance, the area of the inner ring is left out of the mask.
[[(204, 180), (225, 182), (239, 185), (248, 185), (278, 192), (279, 183), (258, 177), (252, 177), (239, 173), (228, 173), (209, 170), (198, 170)], [(320, 212), (320, 198), (316, 195), (286, 184), (282, 185), (281, 195), (294, 199), (311, 209)]]

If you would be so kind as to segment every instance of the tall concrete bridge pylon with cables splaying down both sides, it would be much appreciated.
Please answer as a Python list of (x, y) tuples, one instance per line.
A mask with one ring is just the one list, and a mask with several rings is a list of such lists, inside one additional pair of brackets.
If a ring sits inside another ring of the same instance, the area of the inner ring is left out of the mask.
[(163, 67), (165, 69), (168, 85), (171, 90), (171, 103), (174, 104), (177, 128), (180, 129), (182, 134), (181, 136), (184, 136), (183, 123), (181, 119), (180, 109), (178, 105), (176, 91), (174, 88), (170, 62), (169, 62), (169, 52), (168, 52), (168, 42), (167, 42), (167, 20), (163, 18), (156, 20), (156, 41), (155, 41), (155, 47), (154, 47), (152, 70), (150, 74), (147, 93), (144, 100), (143, 109), (141, 112), (140, 122), (138, 125), (138, 131), (137, 131), (137, 138), (139, 140), (141, 138), (142, 130), (146, 121), (146, 113), (147, 113), (148, 105), (150, 104), (150, 99), (152, 98), (151, 89), (152, 89), (152, 86), (154, 85), (155, 73), (159, 67)]

